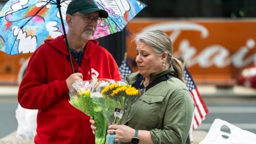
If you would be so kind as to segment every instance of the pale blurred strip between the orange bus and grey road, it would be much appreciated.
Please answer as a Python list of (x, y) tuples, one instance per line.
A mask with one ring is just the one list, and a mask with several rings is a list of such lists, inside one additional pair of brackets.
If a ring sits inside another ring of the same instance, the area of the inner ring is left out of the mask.
[[(17, 97), (18, 86), (0, 85), (0, 97)], [(249, 87), (216, 87), (214, 85), (197, 85), (202, 97), (256, 97), (256, 89)]]

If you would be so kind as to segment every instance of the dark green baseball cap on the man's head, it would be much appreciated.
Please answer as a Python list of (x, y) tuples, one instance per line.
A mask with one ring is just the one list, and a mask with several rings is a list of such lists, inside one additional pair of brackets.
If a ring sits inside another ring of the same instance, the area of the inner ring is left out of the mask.
[(73, 14), (75, 12), (90, 14), (97, 11), (101, 18), (107, 18), (109, 16), (107, 11), (100, 9), (92, 0), (72, 0), (66, 9), (66, 14)]

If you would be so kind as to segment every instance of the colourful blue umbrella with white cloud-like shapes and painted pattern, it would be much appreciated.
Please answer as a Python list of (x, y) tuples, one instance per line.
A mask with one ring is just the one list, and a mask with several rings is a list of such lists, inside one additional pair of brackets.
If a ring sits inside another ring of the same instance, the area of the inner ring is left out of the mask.
[[(62, 34), (66, 36), (68, 26), (65, 16), (70, 2), (71, 0), (9, 0), (0, 12), (0, 50), (10, 55), (34, 52), (45, 39), (53, 39)], [(94, 2), (106, 10), (109, 17), (102, 19), (93, 39), (122, 31), (146, 7), (138, 0)], [(66, 37), (65, 40), (69, 51)]]

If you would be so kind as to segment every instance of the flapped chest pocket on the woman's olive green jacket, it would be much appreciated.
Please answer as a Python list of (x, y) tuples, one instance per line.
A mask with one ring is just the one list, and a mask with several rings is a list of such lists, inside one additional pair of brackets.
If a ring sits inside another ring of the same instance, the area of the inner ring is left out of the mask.
[[(131, 125), (141, 125), (142, 129), (152, 129), (159, 123), (159, 113), (163, 106), (163, 96), (143, 95), (137, 103)], [(143, 125), (143, 126), (142, 126)]]

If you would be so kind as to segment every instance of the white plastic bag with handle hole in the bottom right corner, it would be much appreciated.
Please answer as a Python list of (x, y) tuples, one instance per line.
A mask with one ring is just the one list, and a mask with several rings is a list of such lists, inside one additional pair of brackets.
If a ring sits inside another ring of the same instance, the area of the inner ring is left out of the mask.
[[(220, 131), (223, 125), (230, 128), (230, 133)], [(199, 144), (256, 144), (256, 135), (225, 120), (215, 119), (208, 134)]]

